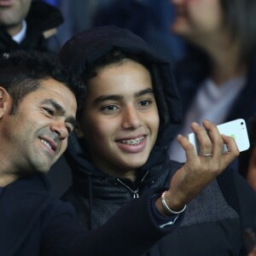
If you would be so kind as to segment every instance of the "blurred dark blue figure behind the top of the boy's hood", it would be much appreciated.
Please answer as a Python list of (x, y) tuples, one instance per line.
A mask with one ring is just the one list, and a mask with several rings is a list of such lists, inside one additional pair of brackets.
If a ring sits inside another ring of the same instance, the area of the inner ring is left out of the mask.
[(172, 63), (180, 60), (186, 51), (183, 39), (169, 30), (173, 19), (170, 0), (42, 1), (54, 4), (64, 16), (56, 35), (61, 44), (92, 27), (113, 25), (142, 37)]

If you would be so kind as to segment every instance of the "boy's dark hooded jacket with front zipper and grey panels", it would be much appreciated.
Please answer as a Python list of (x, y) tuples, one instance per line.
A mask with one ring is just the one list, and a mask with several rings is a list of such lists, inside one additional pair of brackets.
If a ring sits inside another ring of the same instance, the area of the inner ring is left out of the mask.
[[(89, 229), (104, 224), (119, 207), (141, 196), (143, 191), (168, 187), (173, 173), (182, 165), (169, 160), (167, 154), (182, 116), (172, 70), (141, 38), (115, 26), (92, 29), (74, 36), (64, 45), (61, 62), (67, 72), (79, 76), (86, 65), (110, 49), (140, 55), (149, 63), (160, 129), (148, 161), (137, 170), (134, 183), (97, 169), (87, 154), (90, 145), (75, 136), (70, 137), (66, 157), (73, 172), (73, 186), (62, 199), (73, 203), (80, 223)], [(255, 213), (253, 191), (236, 172), (228, 169), (189, 203), (177, 230), (154, 245), (146, 255), (242, 255), (241, 230), (253, 224)]]

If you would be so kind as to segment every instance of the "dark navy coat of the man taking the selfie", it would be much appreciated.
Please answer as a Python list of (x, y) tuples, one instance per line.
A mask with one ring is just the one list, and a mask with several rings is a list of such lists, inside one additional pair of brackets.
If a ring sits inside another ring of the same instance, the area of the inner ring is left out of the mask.
[(73, 207), (51, 193), (44, 175), (20, 178), (3, 189), (0, 255), (133, 256), (176, 226), (160, 229), (154, 223), (148, 194), (122, 208), (108, 224), (88, 231), (77, 224)]

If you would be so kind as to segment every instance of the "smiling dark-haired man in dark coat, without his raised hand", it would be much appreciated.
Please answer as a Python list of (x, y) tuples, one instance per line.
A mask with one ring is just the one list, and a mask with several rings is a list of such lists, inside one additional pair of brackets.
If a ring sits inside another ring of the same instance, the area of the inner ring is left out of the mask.
[(44, 174), (67, 148), (80, 89), (49, 55), (0, 58), (0, 255), (137, 255), (182, 220), (160, 229), (173, 217), (151, 211), (148, 193), (90, 232), (52, 196)]

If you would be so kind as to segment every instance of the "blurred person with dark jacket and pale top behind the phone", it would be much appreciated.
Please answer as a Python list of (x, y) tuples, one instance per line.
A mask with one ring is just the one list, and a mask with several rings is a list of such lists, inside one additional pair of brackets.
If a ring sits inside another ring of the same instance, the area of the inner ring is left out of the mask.
[[(189, 44), (189, 54), (177, 63), (175, 76), (183, 101), (183, 127), (191, 120), (211, 119), (217, 125), (248, 119), (256, 112), (256, 1), (172, 0), (172, 32)], [(172, 160), (184, 161), (178, 143)]]

